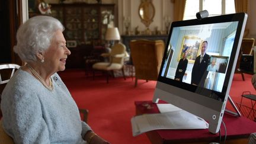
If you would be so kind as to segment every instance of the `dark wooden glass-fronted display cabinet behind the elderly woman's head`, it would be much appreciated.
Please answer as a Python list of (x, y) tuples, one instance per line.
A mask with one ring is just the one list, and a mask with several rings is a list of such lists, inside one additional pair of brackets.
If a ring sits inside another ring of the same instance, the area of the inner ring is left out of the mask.
[(114, 4), (51, 4), (52, 16), (65, 26), (66, 40), (76, 45), (105, 44), (108, 26), (116, 24)]

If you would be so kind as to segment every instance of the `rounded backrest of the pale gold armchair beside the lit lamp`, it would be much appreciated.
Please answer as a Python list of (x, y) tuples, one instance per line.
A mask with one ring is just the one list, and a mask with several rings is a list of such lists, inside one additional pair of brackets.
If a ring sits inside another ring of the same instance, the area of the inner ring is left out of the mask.
[(110, 53), (110, 59), (112, 63), (120, 63), (123, 65), (124, 63), (124, 56), (126, 53), (126, 46), (122, 43), (114, 44), (113, 47), (111, 47), (111, 53)]

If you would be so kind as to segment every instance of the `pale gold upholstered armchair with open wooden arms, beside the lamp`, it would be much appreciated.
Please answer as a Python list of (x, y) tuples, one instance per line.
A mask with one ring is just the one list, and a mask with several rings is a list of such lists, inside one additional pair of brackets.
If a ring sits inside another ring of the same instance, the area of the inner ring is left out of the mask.
[[(124, 57), (126, 57), (126, 46), (122, 43), (114, 44), (113, 47), (111, 47), (110, 53), (103, 53), (101, 54), (103, 57), (108, 57), (109, 62), (98, 62), (92, 65), (92, 69), (104, 71), (107, 73), (107, 83), (108, 83), (108, 77), (110, 75), (110, 72), (113, 73), (114, 70), (121, 70), (123, 73), (124, 80), (126, 79), (124, 75)], [(93, 78), (95, 76), (95, 72), (93, 71)]]

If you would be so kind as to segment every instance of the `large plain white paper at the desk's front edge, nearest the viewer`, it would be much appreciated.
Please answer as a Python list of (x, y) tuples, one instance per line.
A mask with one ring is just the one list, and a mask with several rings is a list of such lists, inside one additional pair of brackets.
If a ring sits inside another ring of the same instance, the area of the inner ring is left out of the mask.
[(208, 129), (209, 124), (184, 110), (143, 114), (131, 120), (133, 136), (158, 129)]

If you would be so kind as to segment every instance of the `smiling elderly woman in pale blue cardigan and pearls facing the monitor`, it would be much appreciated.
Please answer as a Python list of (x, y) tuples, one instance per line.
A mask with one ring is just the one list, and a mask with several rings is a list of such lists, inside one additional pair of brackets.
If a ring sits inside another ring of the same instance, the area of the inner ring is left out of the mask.
[(108, 143), (81, 121), (56, 72), (71, 52), (56, 18), (30, 18), (18, 29), (14, 51), (21, 66), (2, 92), (2, 123), (15, 143)]

